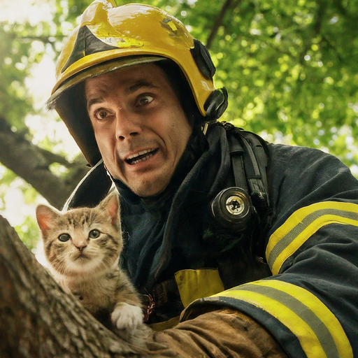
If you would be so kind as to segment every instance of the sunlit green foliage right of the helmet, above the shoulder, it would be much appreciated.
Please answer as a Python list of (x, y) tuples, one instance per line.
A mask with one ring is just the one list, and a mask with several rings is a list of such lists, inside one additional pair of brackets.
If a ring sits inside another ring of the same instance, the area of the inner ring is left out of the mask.
[[(201, 41), (221, 6), (186, 7)], [(357, 20), (354, 1), (234, 2), (210, 46), (224, 118), (357, 163)]]

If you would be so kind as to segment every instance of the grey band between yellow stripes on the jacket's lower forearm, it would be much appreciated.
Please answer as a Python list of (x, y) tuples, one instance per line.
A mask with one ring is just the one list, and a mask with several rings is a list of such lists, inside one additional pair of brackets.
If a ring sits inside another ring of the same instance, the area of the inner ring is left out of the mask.
[(315, 315), (315, 313), (313, 313), (310, 308), (308, 308), (304, 303), (296, 299), (294, 296), (291, 296), (286, 292), (282, 292), (279, 289), (275, 289), (273, 287), (250, 284), (243, 285), (242, 287), (234, 287), (228, 291), (231, 290), (257, 292), (258, 294), (263, 294), (264, 296), (282, 303), (282, 305), (294, 311), (294, 313), (296, 313), (296, 315), (298, 315), (304, 322), (306, 322), (306, 324), (308, 324), (308, 326), (313, 330), (317, 336), (318, 341), (320, 341), (320, 345), (326, 353), (327, 358), (339, 358), (338, 348), (334, 342), (334, 338), (329, 332), (329, 329), (327, 329), (322, 320), (320, 320), (320, 318), (317, 317), (317, 315)]

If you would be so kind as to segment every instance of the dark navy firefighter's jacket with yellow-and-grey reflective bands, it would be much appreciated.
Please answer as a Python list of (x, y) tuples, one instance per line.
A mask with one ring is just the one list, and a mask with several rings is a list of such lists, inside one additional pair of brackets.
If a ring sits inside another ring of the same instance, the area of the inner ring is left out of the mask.
[[(291, 357), (358, 356), (358, 182), (320, 150), (268, 144), (268, 155), (271, 215), (260, 230), (257, 221), (233, 233), (208, 212), (210, 200), (234, 185), (221, 125), (207, 138), (194, 134), (164, 193), (143, 200), (117, 182), (124, 266), (148, 293), (173, 277), (181, 285), (201, 269), (219, 273), (222, 292), (196, 296), (189, 305), (173, 294), (156, 320), (187, 306), (186, 320), (203, 305), (224, 303), (255, 318)], [(257, 241), (267, 264), (257, 259)]]

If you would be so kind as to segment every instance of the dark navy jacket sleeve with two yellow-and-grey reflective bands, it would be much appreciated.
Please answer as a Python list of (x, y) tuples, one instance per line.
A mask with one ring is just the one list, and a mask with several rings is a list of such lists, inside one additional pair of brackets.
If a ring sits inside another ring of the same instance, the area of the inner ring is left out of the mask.
[(358, 182), (320, 150), (270, 145), (272, 276), (194, 301), (262, 324), (290, 357), (358, 357)]

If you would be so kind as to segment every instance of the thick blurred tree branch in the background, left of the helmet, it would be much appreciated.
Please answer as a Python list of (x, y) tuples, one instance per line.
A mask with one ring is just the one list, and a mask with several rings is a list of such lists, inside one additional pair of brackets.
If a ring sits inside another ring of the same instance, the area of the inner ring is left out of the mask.
[[(63, 157), (36, 147), (24, 134), (13, 132), (10, 124), (0, 117), (0, 162), (27, 181), (48, 202), (62, 208), (64, 202), (88, 169), (85, 160), (69, 163)], [(59, 163), (70, 169), (64, 177), (55, 176), (50, 164)]]

